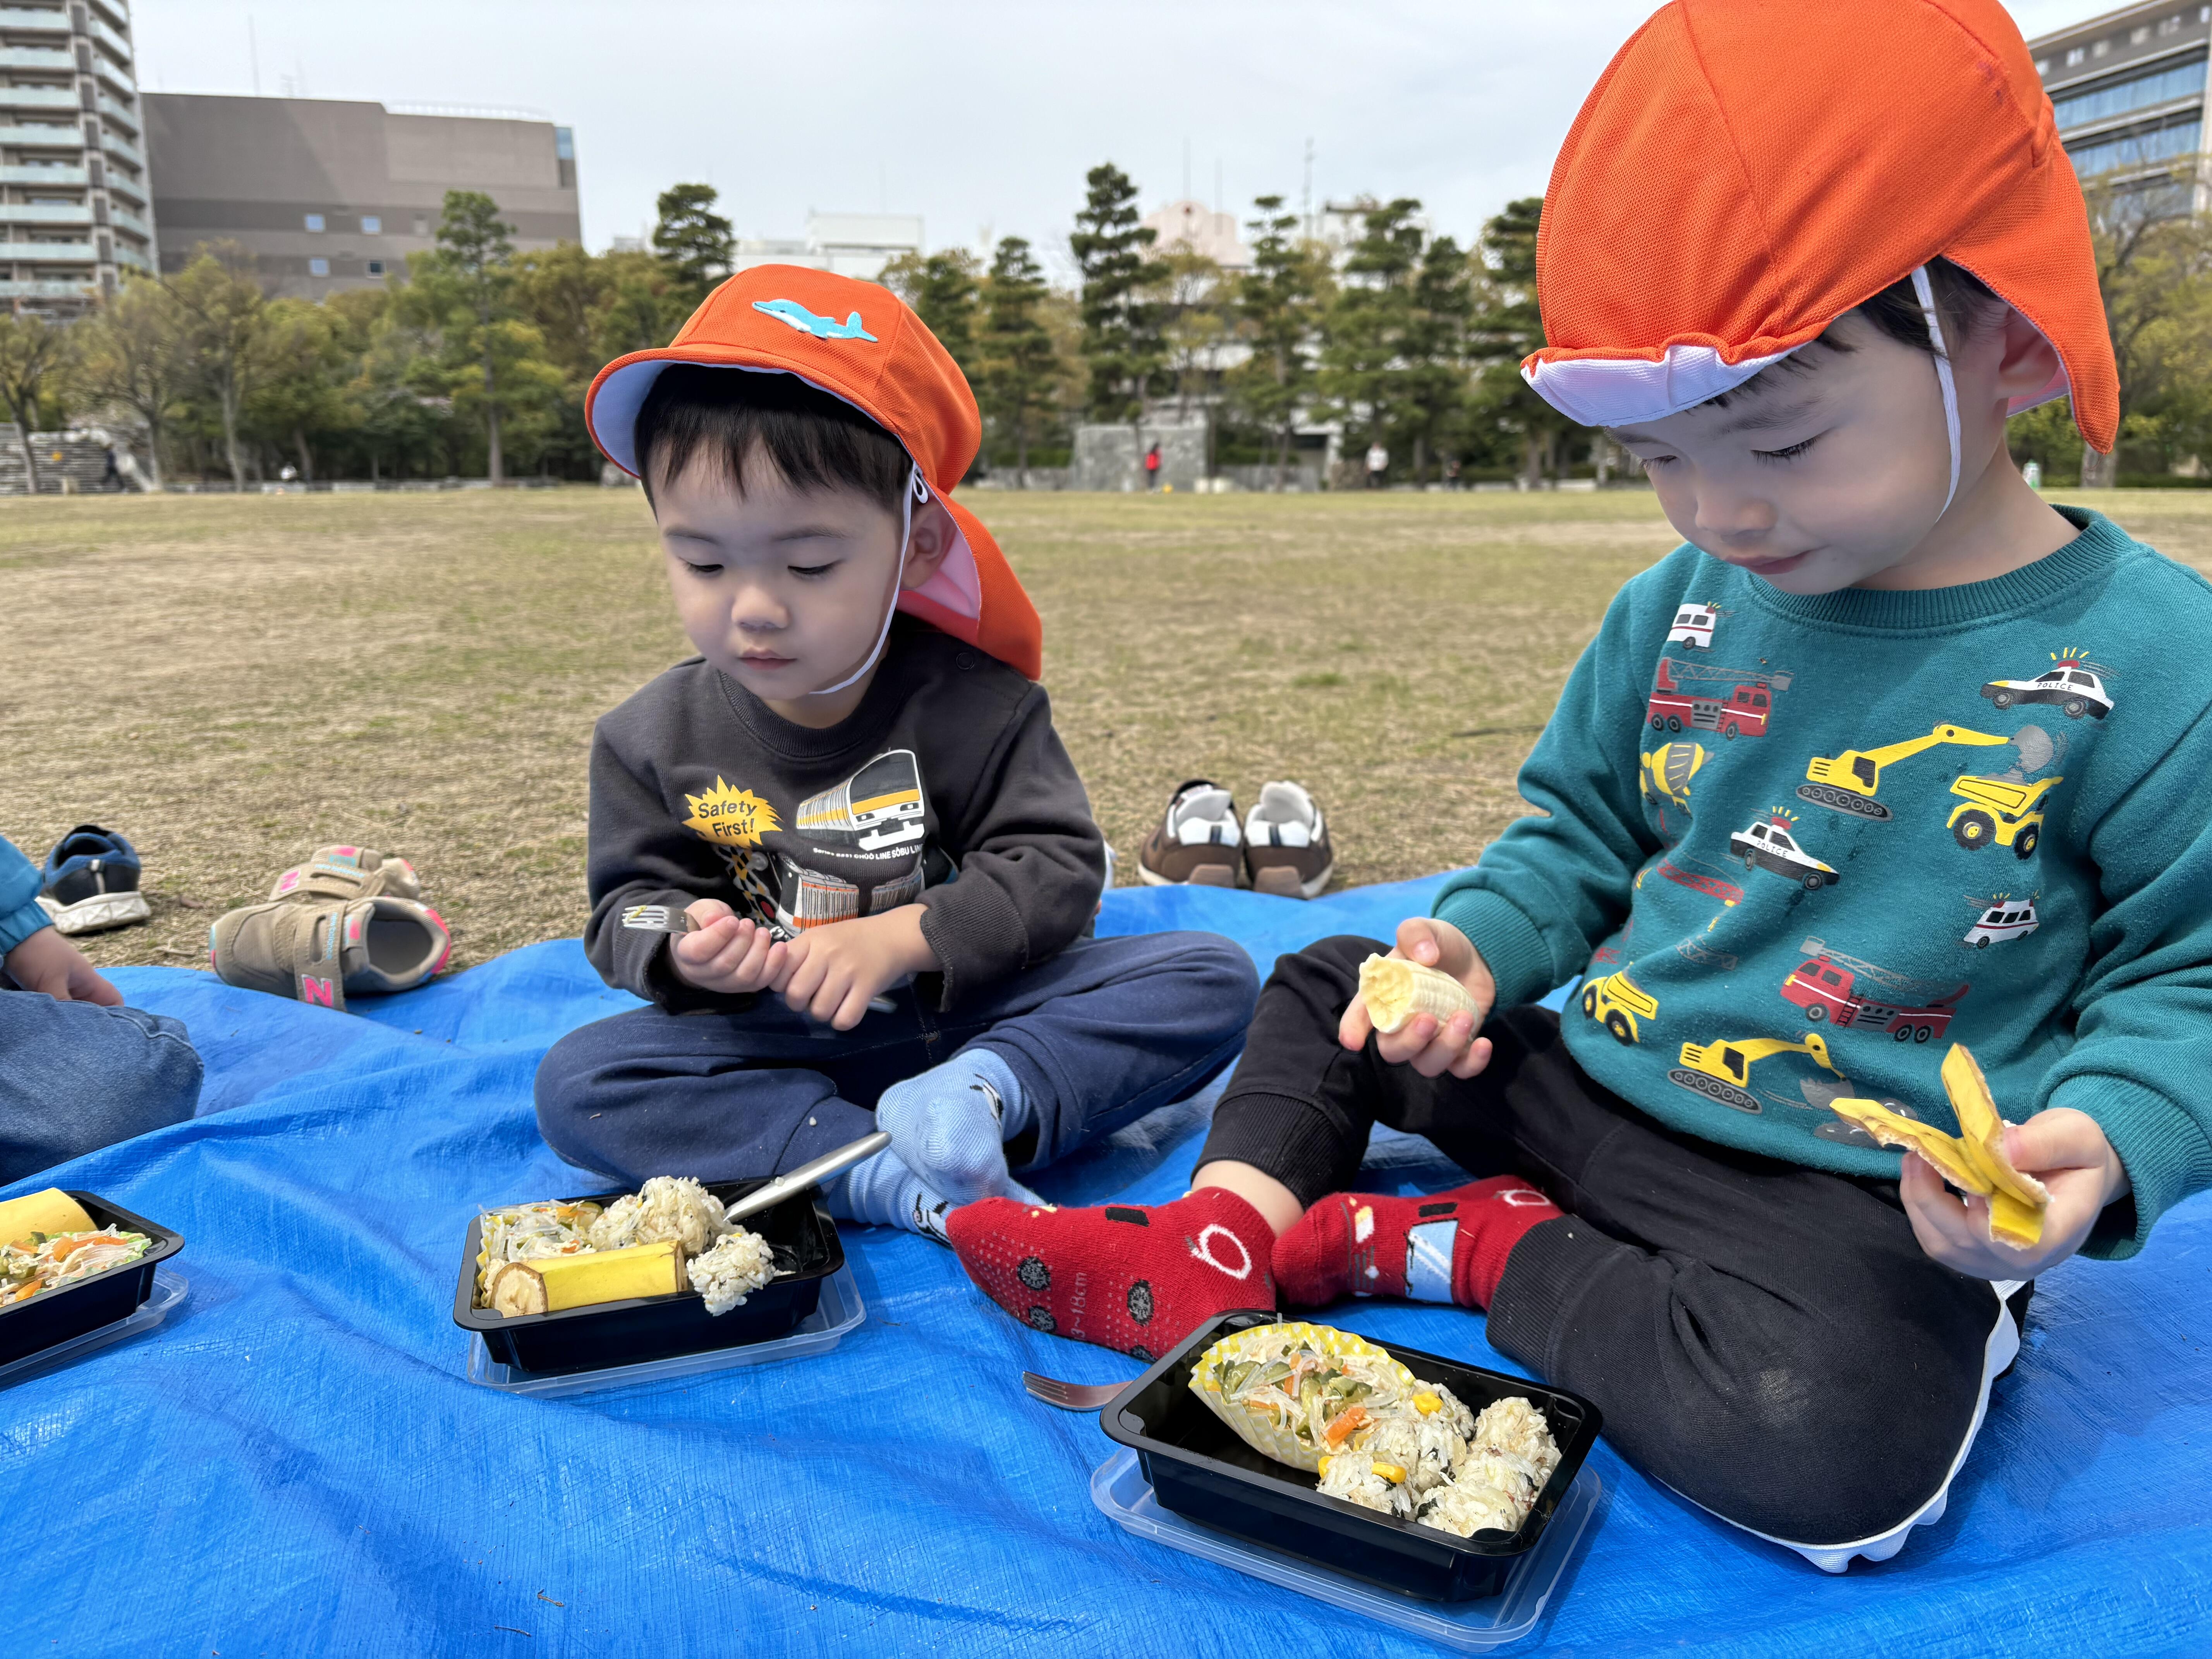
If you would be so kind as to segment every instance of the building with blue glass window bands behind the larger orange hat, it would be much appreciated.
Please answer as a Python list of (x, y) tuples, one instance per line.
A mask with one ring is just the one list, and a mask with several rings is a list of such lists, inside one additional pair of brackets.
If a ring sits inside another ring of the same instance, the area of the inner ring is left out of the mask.
[(2075, 173), (2128, 188), (2154, 212), (2212, 206), (2212, 175), (2199, 159), (2212, 4), (2106, 11), (2037, 35), (2028, 51)]

